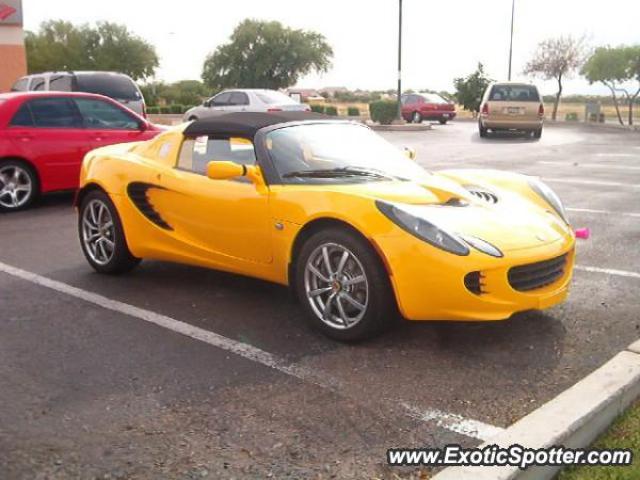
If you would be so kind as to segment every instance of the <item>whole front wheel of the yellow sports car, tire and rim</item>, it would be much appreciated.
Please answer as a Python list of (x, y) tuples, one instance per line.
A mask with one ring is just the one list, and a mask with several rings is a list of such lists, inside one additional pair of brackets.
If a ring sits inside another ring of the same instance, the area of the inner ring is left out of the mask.
[(380, 258), (346, 229), (330, 228), (307, 240), (298, 255), (295, 282), (312, 326), (336, 340), (363, 340), (397, 318)]

